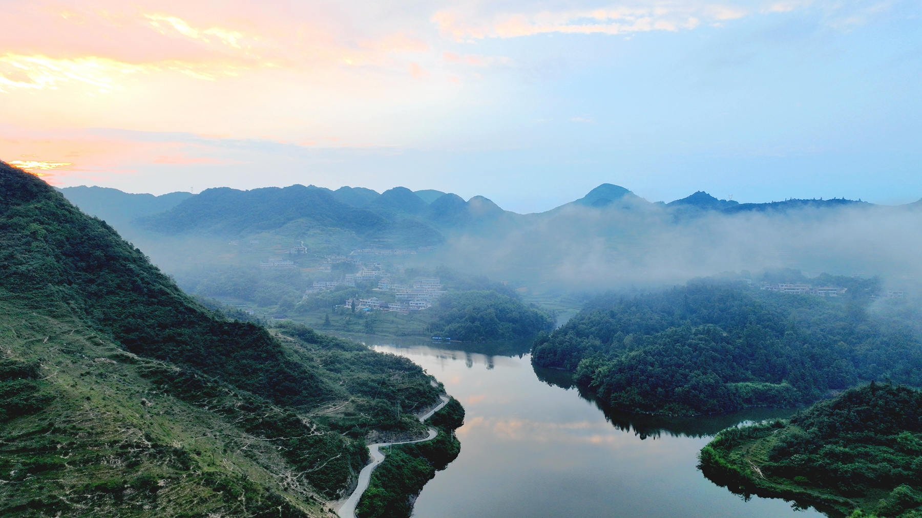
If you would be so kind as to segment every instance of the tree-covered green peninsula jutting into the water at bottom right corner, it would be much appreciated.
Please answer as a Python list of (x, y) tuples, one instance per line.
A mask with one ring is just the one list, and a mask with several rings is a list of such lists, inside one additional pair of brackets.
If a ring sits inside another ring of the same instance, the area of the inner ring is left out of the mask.
[(922, 392), (869, 383), (790, 419), (717, 434), (706, 477), (831, 516), (922, 516)]

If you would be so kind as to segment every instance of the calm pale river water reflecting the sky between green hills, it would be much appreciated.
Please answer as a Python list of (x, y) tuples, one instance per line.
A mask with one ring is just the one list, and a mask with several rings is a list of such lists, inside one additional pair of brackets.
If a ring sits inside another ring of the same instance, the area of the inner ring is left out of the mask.
[(786, 410), (720, 418), (612, 412), (580, 394), (565, 373), (532, 368), (524, 345), (440, 348), (459, 346), (373, 345), (418, 363), (467, 410), (457, 430), (461, 454), (422, 490), (418, 518), (823, 516), (784, 500), (744, 501), (695, 467), (717, 430)]

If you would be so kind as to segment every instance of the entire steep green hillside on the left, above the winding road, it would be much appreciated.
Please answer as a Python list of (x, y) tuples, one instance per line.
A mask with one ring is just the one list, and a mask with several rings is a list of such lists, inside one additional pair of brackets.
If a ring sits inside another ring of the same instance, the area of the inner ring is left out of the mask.
[(0, 512), (330, 514), (372, 430), (424, 433), (410, 362), (213, 312), (0, 162)]

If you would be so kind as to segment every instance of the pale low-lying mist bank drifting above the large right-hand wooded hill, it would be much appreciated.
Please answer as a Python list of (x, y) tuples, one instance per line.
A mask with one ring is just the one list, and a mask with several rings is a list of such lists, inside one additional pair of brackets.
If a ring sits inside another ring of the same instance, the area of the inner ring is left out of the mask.
[(843, 206), (786, 212), (702, 212), (656, 206), (567, 206), (489, 234), (449, 239), (440, 260), (534, 289), (606, 289), (684, 282), (723, 271), (789, 267), (809, 276), (881, 276), (903, 285), (922, 268), (922, 210)]

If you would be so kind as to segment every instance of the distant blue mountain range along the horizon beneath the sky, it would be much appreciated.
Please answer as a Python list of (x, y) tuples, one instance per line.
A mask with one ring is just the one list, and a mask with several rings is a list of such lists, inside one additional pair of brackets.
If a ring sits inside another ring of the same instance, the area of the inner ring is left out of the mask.
[[(435, 190), (410, 191), (395, 187), (377, 193), (363, 187), (340, 187), (336, 191), (313, 185), (266, 187), (240, 191), (229, 187), (212, 188), (200, 194), (128, 194), (102, 187), (65, 187), (67, 199), (90, 215), (124, 226), (138, 224), (158, 233), (175, 235), (189, 231), (239, 235), (275, 230), (297, 219), (317, 226), (337, 227), (369, 233), (381, 230), (421, 232), (417, 241), (432, 244), (442, 241), (435, 230), (455, 230), (477, 222), (493, 223), (506, 218), (542, 218), (559, 214), (574, 206), (597, 209), (665, 210), (679, 217), (700, 216), (708, 212), (784, 212), (805, 207), (832, 208), (864, 205), (867, 202), (833, 198), (828, 200), (790, 199), (782, 202), (740, 204), (717, 199), (698, 191), (669, 203), (649, 203), (630, 190), (603, 183), (584, 197), (536, 214), (521, 215), (502, 210), (490, 199), (461, 196)], [(922, 203), (922, 200), (916, 204)], [(909, 204), (913, 206), (914, 204)], [(405, 243), (401, 243), (405, 244)]]

